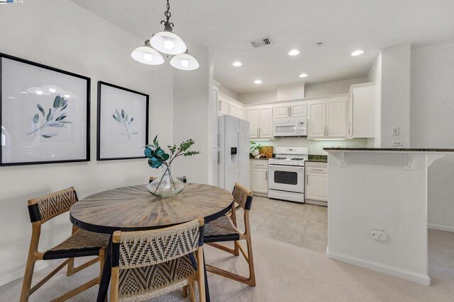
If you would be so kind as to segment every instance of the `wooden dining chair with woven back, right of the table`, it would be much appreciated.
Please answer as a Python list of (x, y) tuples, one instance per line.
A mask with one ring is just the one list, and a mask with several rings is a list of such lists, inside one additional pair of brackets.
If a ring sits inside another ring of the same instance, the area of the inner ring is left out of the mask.
[[(206, 265), (206, 272), (218, 274), (222, 277), (227, 277), (236, 281), (243, 282), (249, 286), (255, 286), (255, 272), (253, 260), (253, 244), (250, 239), (250, 223), (249, 211), (253, 201), (253, 192), (250, 192), (246, 187), (240, 185), (238, 182), (233, 188), (233, 204), (230, 216), (221, 216), (214, 221), (210, 221), (205, 225), (204, 242), (208, 245), (218, 248), (220, 250), (230, 252), (233, 255), (239, 256), (240, 252), (245, 257), (249, 265), (249, 277), (243, 277), (233, 272), (228, 272), (224, 269)], [(236, 223), (236, 204), (238, 204), (244, 211), (244, 225), (245, 231), (242, 233), (238, 230)], [(248, 252), (245, 252), (240, 240), (245, 240), (248, 247)], [(219, 242), (233, 241), (234, 248), (228, 248)]]

